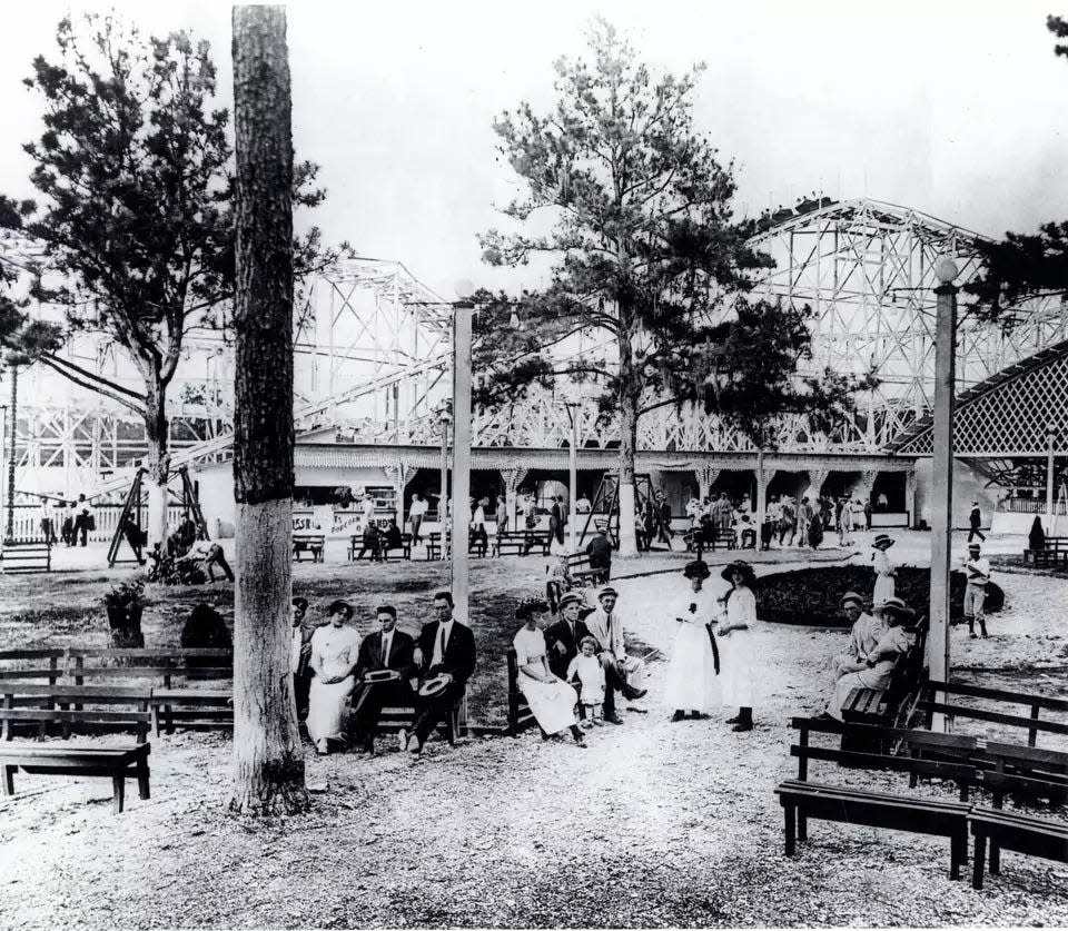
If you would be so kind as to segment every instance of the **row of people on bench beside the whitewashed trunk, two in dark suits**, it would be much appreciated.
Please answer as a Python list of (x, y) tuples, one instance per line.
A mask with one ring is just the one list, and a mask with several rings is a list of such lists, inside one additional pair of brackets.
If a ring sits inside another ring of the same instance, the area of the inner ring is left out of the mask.
[[(402, 730), (398, 745), (418, 755), (434, 729), (463, 697), (475, 670), (475, 638), (453, 617), (453, 596), (434, 595), (436, 618), (417, 637), (397, 628), (397, 611), (379, 605), (379, 630), (366, 637), (349, 626), (353, 607), (336, 601), (329, 622), (309, 627), (306, 598), (293, 600), (294, 687), (298, 716), (307, 719), (316, 752), (353, 743), (374, 753), (384, 707), (414, 707), (412, 730)], [(348, 727), (345, 707), (352, 702)]]

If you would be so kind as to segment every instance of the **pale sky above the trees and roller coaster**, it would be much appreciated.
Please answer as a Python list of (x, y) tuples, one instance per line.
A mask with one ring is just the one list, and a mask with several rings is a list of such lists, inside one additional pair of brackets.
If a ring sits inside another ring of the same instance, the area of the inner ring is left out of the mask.
[[(22, 78), (70, 10), (115, 8), (142, 30), (212, 43), (230, 103), (225, 2), (10, 4), (0, 30), (0, 191), (33, 195), (21, 143), (40, 133)], [(604, 13), (655, 70), (703, 61), (694, 118), (735, 162), (739, 211), (810, 191), (914, 207), (990, 236), (1068, 218), (1068, 59), (1048, 2), (291, 3), (297, 155), (329, 190), (327, 241), (400, 259), (444, 296), (456, 281), (537, 284), (490, 269), (477, 235), (514, 181), (495, 116), (553, 101), (553, 61)], [(1068, 11), (1065, 11), (1068, 12)], [(309, 221), (309, 217), (300, 221)]]

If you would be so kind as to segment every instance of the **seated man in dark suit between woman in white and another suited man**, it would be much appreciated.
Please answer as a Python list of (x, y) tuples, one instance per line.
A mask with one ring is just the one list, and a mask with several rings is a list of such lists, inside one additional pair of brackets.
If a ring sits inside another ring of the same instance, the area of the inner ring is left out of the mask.
[(355, 676), (363, 680), (367, 673), (393, 670), (400, 679), (386, 682), (364, 682), (353, 695), (352, 726), (356, 746), (365, 753), (375, 752), (375, 731), (386, 705), (406, 706), (414, 702), (409, 680), (418, 674), (413, 660), (415, 641), (397, 630), (397, 610), (384, 604), (378, 611), (379, 630), (364, 637), (356, 660)]

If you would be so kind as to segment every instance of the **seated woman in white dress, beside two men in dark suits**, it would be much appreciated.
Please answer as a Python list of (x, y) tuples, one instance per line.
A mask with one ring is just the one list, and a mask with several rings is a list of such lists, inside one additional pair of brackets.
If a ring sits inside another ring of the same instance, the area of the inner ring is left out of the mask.
[(308, 733), (316, 752), (329, 752), (328, 741), (344, 741), (342, 714), (353, 691), (353, 670), (359, 655), (359, 634), (345, 626), (353, 617), (348, 602), (334, 602), (327, 612), (330, 623), (312, 635), (312, 660), (315, 673), (308, 694)]

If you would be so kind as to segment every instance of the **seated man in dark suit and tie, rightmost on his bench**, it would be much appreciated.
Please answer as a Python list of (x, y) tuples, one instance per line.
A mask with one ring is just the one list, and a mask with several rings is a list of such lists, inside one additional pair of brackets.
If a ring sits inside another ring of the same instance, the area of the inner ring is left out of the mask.
[(434, 596), (437, 621), (424, 624), (415, 647), (415, 663), (422, 679), (443, 675), (445, 689), (436, 695), (416, 695), (415, 724), (407, 736), (407, 750), (418, 755), (423, 744), (453, 705), (463, 696), (467, 680), (475, 671), (475, 637), (471, 627), (453, 617), (453, 596), (438, 592)]

